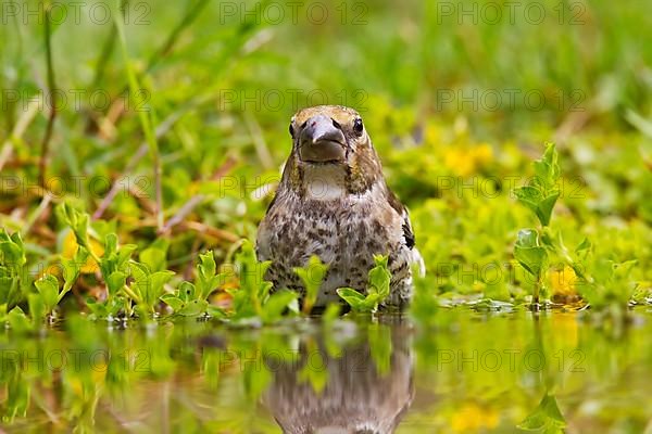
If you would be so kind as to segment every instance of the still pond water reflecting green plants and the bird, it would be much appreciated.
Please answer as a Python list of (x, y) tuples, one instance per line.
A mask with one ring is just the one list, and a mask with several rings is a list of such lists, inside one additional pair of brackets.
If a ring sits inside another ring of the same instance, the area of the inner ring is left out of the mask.
[[(652, 327), (585, 312), (108, 328), (0, 337), (5, 432), (640, 433)], [(283, 429), (281, 429), (283, 426)]]

